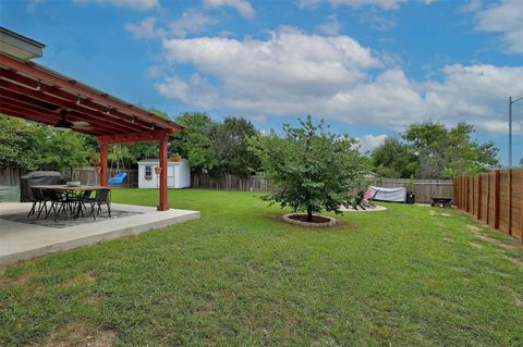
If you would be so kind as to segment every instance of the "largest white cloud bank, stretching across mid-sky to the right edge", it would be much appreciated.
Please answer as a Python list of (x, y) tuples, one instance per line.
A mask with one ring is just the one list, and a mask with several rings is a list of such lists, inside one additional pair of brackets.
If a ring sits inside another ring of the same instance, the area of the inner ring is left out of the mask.
[(439, 80), (415, 82), (351, 37), (292, 28), (266, 40), (199, 37), (165, 39), (162, 46), (168, 64), (197, 72), (190, 78), (168, 74), (157, 84), (161, 95), (245, 116), (309, 113), (393, 128), (431, 119), (489, 131), (482, 124), (506, 119), (507, 96), (523, 95), (523, 66), (454, 64), (439, 72)]

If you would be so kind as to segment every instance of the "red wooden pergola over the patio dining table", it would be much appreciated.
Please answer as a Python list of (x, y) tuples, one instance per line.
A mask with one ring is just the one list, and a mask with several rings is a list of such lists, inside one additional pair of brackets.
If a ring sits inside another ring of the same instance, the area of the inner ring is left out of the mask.
[[(95, 136), (100, 149), (100, 184), (107, 185), (107, 149), (112, 144), (158, 141), (159, 211), (167, 199), (169, 135), (183, 127), (73, 78), (0, 52), (0, 112), (48, 125), (70, 124)], [(81, 124), (82, 126), (75, 126)]]

